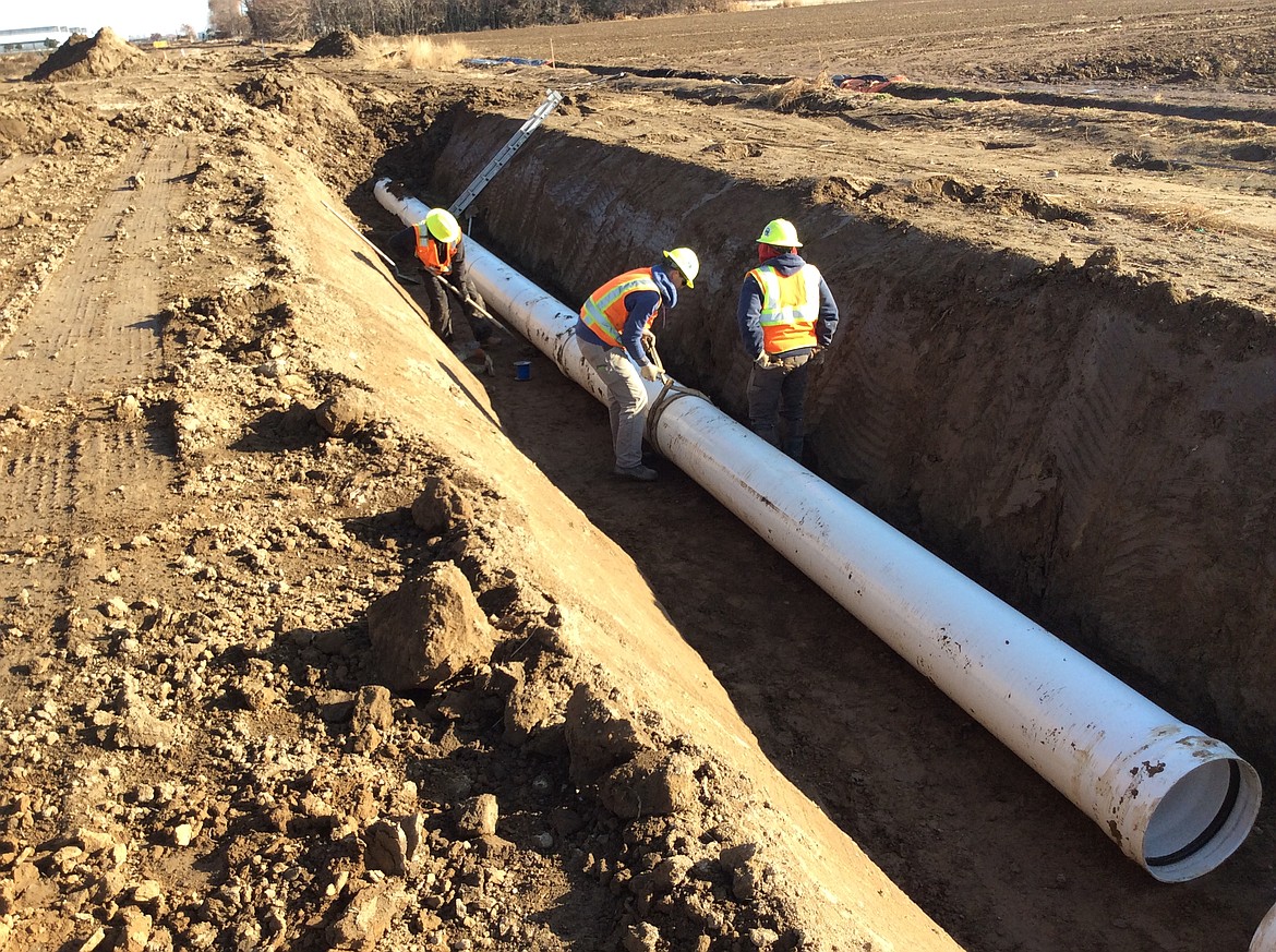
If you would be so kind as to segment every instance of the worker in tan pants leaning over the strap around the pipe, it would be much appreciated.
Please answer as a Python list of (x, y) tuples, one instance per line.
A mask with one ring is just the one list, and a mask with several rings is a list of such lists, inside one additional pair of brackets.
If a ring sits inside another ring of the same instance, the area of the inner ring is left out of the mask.
[(678, 288), (693, 287), (701, 262), (689, 248), (665, 251), (661, 264), (618, 274), (581, 306), (575, 339), (581, 353), (607, 387), (615, 475), (642, 482), (656, 471), (642, 463), (643, 380), (658, 380), (664, 368), (643, 341), (656, 316), (678, 304)]

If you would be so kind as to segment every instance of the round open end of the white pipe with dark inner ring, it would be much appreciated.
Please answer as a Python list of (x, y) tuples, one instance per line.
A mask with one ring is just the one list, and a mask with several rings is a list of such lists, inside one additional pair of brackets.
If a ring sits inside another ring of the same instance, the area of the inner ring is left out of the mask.
[(1245, 841), (1261, 801), (1262, 782), (1253, 767), (1234, 754), (1206, 759), (1161, 796), (1138, 860), (1162, 883), (1205, 875)]

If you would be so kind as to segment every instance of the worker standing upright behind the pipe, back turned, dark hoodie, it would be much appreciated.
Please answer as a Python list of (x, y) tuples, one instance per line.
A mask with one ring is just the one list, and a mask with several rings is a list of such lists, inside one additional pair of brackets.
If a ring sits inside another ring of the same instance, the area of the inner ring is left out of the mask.
[(776, 218), (767, 223), (758, 236), (758, 267), (740, 288), (736, 320), (753, 360), (749, 428), (801, 462), (812, 360), (833, 342), (838, 315), (823, 276), (801, 259), (799, 248), (792, 222)]

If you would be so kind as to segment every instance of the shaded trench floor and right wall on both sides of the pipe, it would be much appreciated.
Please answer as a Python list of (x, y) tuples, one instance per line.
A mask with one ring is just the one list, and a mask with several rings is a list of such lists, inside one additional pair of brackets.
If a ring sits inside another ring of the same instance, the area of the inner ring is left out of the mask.
[[(521, 121), (447, 107), (374, 177), (447, 203)], [(366, 195), (351, 204), (382, 237), (396, 227)], [(1261, 773), (1273, 766), (1270, 327), (1101, 255), (1078, 268), (990, 251), (810, 182), (551, 128), (470, 212), (485, 248), (570, 306), (661, 248), (694, 248), (702, 276), (658, 328), (661, 353), (738, 420), (739, 281), (760, 225), (798, 221), (845, 320), (808, 402), (808, 466)], [(601, 407), (530, 346), (505, 347), (484, 382), (507, 434), (630, 553), (763, 750), (958, 942), (1053, 947), (1041, 923), (1057, 920), (1077, 947), (1116, 947), (1128, 921), (1164, 929), (1166, 948), (1208, 944), (1220, 919), (1248, 938), (1256, 900), (1228, 882), (1180, 896), (1168, 920), (1088, 819), (675, 467), (657, 462), (652, 487), (610, 481)], [(533, 379), (514, 382), (524, 357)], [(1074, 891), (1092, 877), (1102, 895)], [(1002, 915), (1003, 892), (1022, 921)]]

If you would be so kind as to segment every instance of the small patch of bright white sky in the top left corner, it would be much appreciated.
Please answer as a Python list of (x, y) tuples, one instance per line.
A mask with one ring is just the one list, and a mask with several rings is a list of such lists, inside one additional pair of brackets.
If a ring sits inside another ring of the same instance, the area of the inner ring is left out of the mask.
[(93, 36), (110, 27), (125, 38), (208, 29), (208, 0), (42, 0), (0, 4), (0, 29), (79, 27)]

